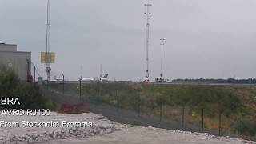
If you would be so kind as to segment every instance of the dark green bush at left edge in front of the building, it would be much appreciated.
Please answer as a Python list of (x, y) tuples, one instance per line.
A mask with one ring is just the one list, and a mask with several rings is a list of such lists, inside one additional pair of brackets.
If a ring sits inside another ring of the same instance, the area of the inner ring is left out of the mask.
[(18, 98), (21, 105), (1, 106), (1, 109), (40, 109), (45, 108), (46, 100), (37, 87), (30, 82), (20, 82), (12, 70), (0, 68), (0, 97)]

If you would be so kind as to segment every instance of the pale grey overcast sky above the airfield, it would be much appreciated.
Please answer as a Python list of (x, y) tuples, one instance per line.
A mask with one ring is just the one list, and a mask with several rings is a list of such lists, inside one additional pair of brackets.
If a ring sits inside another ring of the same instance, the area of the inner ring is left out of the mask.
[[(145, 77), (146, 0), (52, 0), (52, 74), (78, 79)], [(255, 0), (152, 0), (150, 78), (255, 78)], [(0, 42), (39, 54), (46, 50), (46, 0), (0, 0)], [(44, 75), (44, 74), (43, 74)]]

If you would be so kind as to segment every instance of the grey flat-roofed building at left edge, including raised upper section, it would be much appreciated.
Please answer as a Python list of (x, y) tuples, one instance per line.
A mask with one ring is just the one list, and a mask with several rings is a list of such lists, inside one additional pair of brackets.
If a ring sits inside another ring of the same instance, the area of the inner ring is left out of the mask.
[(31, 79), (31, 52), (17, 51), (17, 45), (0, 43), (0, 66), (14, 70), (20, 80), (28, 81)]

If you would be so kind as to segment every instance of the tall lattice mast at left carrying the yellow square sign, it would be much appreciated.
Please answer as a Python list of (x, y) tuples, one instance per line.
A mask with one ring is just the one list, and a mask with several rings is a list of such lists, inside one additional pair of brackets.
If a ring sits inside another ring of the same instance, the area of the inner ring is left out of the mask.
[(47, 2), (47, 28), (46, 28), (46, 80), (50, 81), (50, 0)]

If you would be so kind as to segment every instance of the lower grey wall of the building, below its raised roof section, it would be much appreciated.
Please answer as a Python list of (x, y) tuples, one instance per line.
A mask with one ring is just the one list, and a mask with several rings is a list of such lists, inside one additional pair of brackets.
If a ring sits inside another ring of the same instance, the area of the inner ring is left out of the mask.
[(30, 67), (28, 69), (30, 64), (27, 60), (31, 60), (31, 52), (0, 51), (0, 65), (14, 70), (14, 72), (18, 74), (18, 78), (22, 81), (26, 81), (27, 74), (30, 74)]

